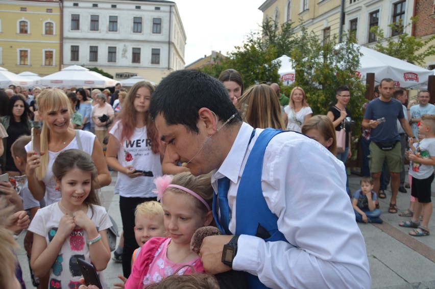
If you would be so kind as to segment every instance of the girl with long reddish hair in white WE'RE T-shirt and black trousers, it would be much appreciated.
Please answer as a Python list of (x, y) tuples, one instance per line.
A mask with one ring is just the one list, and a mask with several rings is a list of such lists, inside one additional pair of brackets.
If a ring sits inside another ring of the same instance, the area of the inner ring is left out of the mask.
[(119, 120), (110, 129), (106, 150), (107, 164), (118, 172), (114, 193), (120, 194), (125, 277), (130, 275), (131, 256), (138, 246), (133, 229), (134, 209), (142, 202), (156, 200), (153, 179), (162, 174), (162, 144), (148, 113), (153, 92), (154, 86), (148, 82), (138, 82), (130, 89)]

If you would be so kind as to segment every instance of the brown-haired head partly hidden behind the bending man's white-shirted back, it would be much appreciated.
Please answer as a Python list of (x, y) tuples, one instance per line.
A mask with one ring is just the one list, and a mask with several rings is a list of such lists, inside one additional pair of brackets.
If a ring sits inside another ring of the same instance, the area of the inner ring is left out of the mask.
[(326, 115), (315, 115), (305, 121), (302, 125), (302, 134), (319, 142), (333, 155), (337, 154), (335, 128)]

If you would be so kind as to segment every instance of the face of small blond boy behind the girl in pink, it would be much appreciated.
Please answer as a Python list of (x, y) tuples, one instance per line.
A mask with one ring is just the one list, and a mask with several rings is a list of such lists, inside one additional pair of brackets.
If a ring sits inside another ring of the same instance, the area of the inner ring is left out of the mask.
[(153, 237), (166, 237), (163, 215), (148, 217), (137, 213), (134, 224), (134, 237), (140, 247)]

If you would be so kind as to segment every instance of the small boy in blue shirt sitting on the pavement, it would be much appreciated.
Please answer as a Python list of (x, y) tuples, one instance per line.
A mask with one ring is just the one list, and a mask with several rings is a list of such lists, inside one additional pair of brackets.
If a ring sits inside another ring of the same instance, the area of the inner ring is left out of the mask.
[(355, 218), (360, 223), (382, 223), (381, 212), (376, 208), (376, 193), (373, 191), (373, 178), (364, 176), (359, 181), (361, 189), (353, 194), (352, 206)]

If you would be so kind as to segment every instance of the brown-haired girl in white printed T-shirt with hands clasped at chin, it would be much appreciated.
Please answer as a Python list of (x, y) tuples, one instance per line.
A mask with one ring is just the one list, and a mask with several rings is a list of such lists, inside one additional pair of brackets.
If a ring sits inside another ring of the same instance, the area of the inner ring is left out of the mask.
[(53, 164), (62, 199), (39, 209), (33, 232), (31, 268), (36, 276), (50, 272), (50, 288), (76, 288), (81, 271), (77, 259), (103, 271), (110, 260), (106, 229), (112, 226), (95, 192), (97, 171), (89, 154), (78, 149), (59, 153)]

